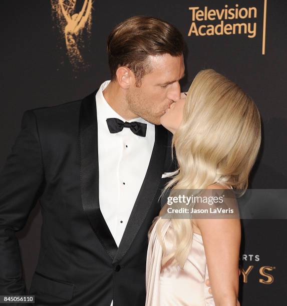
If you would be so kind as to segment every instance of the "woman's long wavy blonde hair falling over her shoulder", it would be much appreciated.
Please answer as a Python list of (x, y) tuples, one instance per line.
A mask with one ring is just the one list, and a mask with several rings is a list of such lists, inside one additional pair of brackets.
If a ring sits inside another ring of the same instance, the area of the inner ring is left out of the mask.
[[(213, 69), (201, 70), (189, 87), (183, 118), (172, 139), (179, 172), (165, 186), (173, 189), (204, 189), (221, 183), (241, 195), (261, 142), (259, 111), (253, 100), (234, 82)], [(166, 212), (165, 204), (155, 221)], [(171, 218), (175, 233), (173, 251), (164, 255), (162, 265), (171, 259), (181, 268), (192, 243), (190, 219)], [(165, 254), (160, 218), (157, 235)]]

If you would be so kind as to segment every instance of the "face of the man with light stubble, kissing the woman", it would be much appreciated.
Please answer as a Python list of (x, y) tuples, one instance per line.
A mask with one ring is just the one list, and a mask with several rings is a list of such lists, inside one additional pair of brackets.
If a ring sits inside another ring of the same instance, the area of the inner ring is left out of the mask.
[(160, 117), (180, 98), (179, 80), (184, 76), (183, 55), (149, 56), (152, 72), (136, 86), (134, 79), (127, 93), (130, 110), (145, 120), (160, 124)]

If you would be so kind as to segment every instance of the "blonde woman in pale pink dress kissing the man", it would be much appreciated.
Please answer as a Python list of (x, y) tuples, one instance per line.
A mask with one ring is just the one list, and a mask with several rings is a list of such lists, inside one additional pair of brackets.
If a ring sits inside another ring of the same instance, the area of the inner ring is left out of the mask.
[[(165, 190), (245, 192), (261, 125), (256, 105), (238, 85), (201, 70), (160, 121), (173, 133), (179, 165)], [(146, 305), (238, 305), (239, 217), (160, 217), (166, 211), (167, 204), (148, 233)]]

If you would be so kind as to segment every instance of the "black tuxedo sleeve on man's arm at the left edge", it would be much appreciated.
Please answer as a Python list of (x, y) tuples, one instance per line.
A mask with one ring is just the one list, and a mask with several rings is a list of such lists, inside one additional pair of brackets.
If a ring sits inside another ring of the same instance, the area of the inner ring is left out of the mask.
[(26, 110), (0, 172), (0, 295), (27, 294), (15, 232), (25, 226), (44, 183), (37, 119), (33, 110)]

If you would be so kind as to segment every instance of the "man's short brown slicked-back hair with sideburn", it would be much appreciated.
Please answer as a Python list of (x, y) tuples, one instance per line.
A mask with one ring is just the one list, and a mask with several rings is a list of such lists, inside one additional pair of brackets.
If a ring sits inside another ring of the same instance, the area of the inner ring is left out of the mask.
[(142, 77), (152, 71), (148, 55), (180, 56), (184, 46), (182, 34), (172, 24), (149, 16), (130, 17), (117, 24), (108, 37), (111, 79), (116, 79), (118, 67), (126, 66), (134, 72), (136, 85), (140, 86)]

